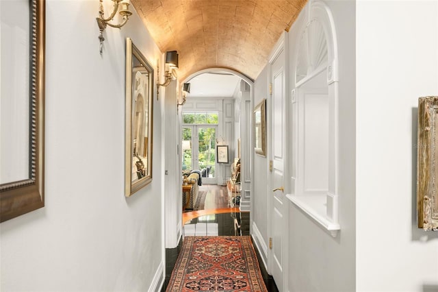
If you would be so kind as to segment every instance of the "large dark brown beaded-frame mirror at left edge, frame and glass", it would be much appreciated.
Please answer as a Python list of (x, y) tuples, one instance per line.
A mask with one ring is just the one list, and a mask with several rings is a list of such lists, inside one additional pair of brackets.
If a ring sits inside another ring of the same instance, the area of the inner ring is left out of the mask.
[(0, 221), (44, 206), (45, 1), (0, 1)]

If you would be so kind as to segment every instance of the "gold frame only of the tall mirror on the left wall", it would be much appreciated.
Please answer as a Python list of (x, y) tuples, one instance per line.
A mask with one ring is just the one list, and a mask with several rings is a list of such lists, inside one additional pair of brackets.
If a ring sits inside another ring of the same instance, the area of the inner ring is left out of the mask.
[[(153, 160), (153, 66), (146, 60), (140, 50), (133, 44), (131, 38), (126, 40), (126, 112), (125, 112), (125, 197), (131, 197), (144, 186), (152, 182), (152, 160)], [(132, 182), (132, 163), (133, 163), (133, 57), (136, 57), (149, 73), (149, 98), (148, 98), (148, 133), (147, 141), (148, 157), (146, 161), (147, 173), (144, 178), (138, 182)]]

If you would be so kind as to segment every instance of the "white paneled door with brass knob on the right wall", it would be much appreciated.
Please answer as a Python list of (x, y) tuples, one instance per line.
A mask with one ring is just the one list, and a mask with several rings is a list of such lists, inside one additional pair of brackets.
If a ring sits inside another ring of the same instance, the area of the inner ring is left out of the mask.
[[(270, 160), (270, 269), (279, 291), (284, 280), (284, 224), (285, 224), (285, 55), (284, 51), (271, 63), (272, 99)], [(269, 107), (268, 107), (269, 108)]]

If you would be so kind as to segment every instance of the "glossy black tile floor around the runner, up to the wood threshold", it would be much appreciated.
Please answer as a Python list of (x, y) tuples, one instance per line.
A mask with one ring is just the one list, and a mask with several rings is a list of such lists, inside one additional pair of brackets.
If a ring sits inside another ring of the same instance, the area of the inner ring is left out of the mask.
[[(233, 212), (223, 214), (205, 215), (194, 218), (188, 221), (183, 226), (183, 236), (231, 236), (231, 235), (250, 235), (249, 234), (249, 212)], [(166, 249), (166, 280), (162, 291), (166, 291), (166, 287), (170, 280), (170, 275), (175, 267), (179, 251), (181, 250), (181, 241), (178, 247)], [(274, 279), (268, 275), (266, 269), (261, 262), (261, 258), (257, 248), (255, 248), (261, 275), (265, 281), (269, 292), (279, 291), (276, 288)]]

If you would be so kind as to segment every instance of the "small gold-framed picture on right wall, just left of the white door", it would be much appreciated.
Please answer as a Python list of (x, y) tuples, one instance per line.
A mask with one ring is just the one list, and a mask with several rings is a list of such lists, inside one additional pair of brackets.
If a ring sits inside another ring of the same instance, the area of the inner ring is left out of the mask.
[(255, 153), (266, 156), (266, 99), (254, 108), (253, 120)]

